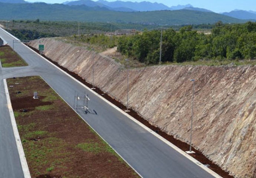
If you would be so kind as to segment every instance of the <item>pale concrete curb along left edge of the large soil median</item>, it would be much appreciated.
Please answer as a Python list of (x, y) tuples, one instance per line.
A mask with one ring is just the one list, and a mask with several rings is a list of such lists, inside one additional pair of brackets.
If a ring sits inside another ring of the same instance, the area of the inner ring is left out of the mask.
[(5, 89), (5, 94), (6, 94), (6, 99), (7, 99), (7, 106), (8, 106), (9, 113), (10, 113), (10, 118), (11, 118), (12, 127), (13, 127), (13, 133), (14, 133), (14, 137), (15, 137), (15, 140), (16, 140), (16, 145), (17, 145), (17, 149), (18, 149), (18, 152), (19, 152), (19, 156), (20, 156), (20, 163), (22, 165), (24, 178), (31, 178), (30, 172), (29, 172), (29, 167), (27, 165), (26, 157), (25, 157), (24, 150), (23, 150), (23, 147), (22, 147), (22, 142), (20, 141), (20, 135), (19, 135), (19, 131), (18, 131), (18, 128), (17, 128), (16, 121), (15, 121), (15, 117), (14, 117), (14, 113), (13, 113), (12, 103), (11, 103), (11, 100), (10, 100), (10, 95), (9, 95), (6, 79), (4, 79), (4, 89)]

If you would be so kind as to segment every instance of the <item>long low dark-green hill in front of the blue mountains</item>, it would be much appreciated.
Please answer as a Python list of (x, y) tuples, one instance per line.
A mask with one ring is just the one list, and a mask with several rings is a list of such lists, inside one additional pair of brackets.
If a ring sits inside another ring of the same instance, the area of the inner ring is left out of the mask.
[(139, 24), (203, 24), (243, 23), (244, 20), (224, 16), (213, 12), (194, 10), (118, 12), (104, 7), (67, 6), (63, 4), (0, 3), (1, 20), (51, 20), (51, 21), (83, 21), (83, 22), (117, 22)]

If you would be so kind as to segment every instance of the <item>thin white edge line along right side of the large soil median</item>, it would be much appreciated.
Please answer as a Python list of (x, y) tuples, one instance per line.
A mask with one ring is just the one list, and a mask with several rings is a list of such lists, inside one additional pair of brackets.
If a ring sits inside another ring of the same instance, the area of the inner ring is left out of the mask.
[[(50, 88), (52, 88), (52, 86), (51, 86), (48, 82), (46, 82), (46, 80), (45, 80), (42, 76), (40, 76), (40, 77), (43, 79), (43, 81), (45, 81), (45, 83), (47, 83), (47, 85), (49, 85)], [(53, 89), (53, 88), (52, 88), (52, 89)], [(55, 89), (53, 89), (53, 90), (54, 90), (55, 93), (57, 93), (57, 95), (59, 95), (59, 93), (58, 93)], [(143, 178), (143, 177), (140, 175), (140, 173), (138, 173), (138, 171), (135, 170), (134, 167), (132, 167), (121, 155), (119, 155), (119, 153), (118, 153), (111, 145), (109, 145), (109, 143), (108, 143), (104, 138), (102, 138), (102, 136), (99, 135), (99, 133), (98, 133), (97, 131), (95, 131), (95, 129), (93, 129), (92, 126), (91, 126), (85, 119), (83, 119), (83, 117), (82, 117), (82, 116), (81, 116), (64, 98), (62, 98), (62, 96), (59, 95), (59, 97), (60, 97), (63, 101), (65, 101), (65, 103), (67, 103), (67, 105), (68, 105), (71, 109), (73, 109), (73, 111), (75, 111), (76, 114), (77, 114), (87, 125), (89, 125), (89, 126), (91, 127), (91, 129), (92, 129), (106, 144), (108, 144), (108, 146), (110, 146), (110, 147), (115, 151), (115, 153), (116, 153), (118, 156), (120, 156), (120, 158), (122, 158), (122, 159), (126, 162), (126, 164), (129, 165), (129, 167), (131, 167), (141, 178)]]

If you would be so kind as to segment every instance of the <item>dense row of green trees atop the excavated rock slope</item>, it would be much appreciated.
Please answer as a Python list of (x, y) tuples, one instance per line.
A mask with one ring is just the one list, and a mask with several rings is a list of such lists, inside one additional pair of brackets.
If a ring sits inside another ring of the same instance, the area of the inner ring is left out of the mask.
[[(160, 56), (160, 30), (122, 36), (118, 51), (140, 62), (156, 64)], [(163, 31), (162, 61), (184, 62), (201, 59), (253, 59), (256, 57), (256, 23), (214, 25), (210, 34), (198, 33), (192, 26)]]

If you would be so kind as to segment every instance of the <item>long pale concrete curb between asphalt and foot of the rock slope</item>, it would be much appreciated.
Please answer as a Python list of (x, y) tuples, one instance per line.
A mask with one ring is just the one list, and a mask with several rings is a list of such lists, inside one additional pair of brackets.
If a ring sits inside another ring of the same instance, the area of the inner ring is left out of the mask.
[[(5, 30), (4, 30), (5, 31)], [(6, 31), (5, 31), (6, 32)], [(8, 32), (6, 32), (8, 33)], [(9, 33), (8, 33), (9, 34)], [(13, 36), (13, 35), (11, 35)], [(16, 38), (16, 37), (15, 37)], [(16, 38), (17, 39), (17, 38)], [(23, 44), (23, 43), (22, 43)], [(25, 44), (23, 44), (24, 46), (26, 46)], [(26, 46), (28, 49), (30, 49), (28, 46)], [(32, 50), (32, 49), (30, 49)], [(36, 53), (34, 50), (32, 50), (34, 53)], [(194, 159), (192, 156), (188, 155), (186, 152), (184, 152), (183, 150), (181, 150), (180, 148), (178, 148), (177, 146), (173, 145), (171, 142), (167, 141), (165, 138), (163, 138), (162, 136), (158, 135), (157, 133), (155, 133), (154, 131), (152, 131), (151, 129), (149, 129), (147, 126), (143, 125), (141, 122), (137, 121), (135, 118), (133, 118), (132, 116), (128, 115), (126, 112), (122, 111), (120, 108), (118, 108), (117, 106), (115, 106), (114, 104), (112, 104), (111, 102), (109, 102), (108, 100), (106, 100), (105, 98), (103, 98), (101, 95), (99, 95), (98, 93), (96, 93), (95, 91), (93, 91), (91, 88), (87, 87), (86, 85), (84, 85), (82, 82), (80, 82), (79, 80), (73, 78), (71, 75), (69, 75), (68, 73), (66, 73), (65, 71), (63, 71), (62, 69), (60, 69), (58, 66), (54, 65), (53, 63), (51, 63), (49, 60), (47, 60), (45, 57), (39, 55), (38, 53), (36, 53), (38, 56), (42, 57), (43, 59), (45, 59), (47, 62), (49, 62), (51, 65), (53, 65), (54, 67), (56, 67), (58, 70), (60, 70), (61, 72), (65, 73), (65, 75), (69, 76), (70, 78), (72, 78), (73, 80), (75, 80), (76, 82), (80, 83), (83, 87), (85, 87), (86, 89), (88, 89), (89, 91), (91, 91), (91, 93), (93, 93), (95, 96), (98, 96), (100, 99), (104, 100), (106, 103), (108, 103), (109, 105), (111, 105), (112, 107), (114, 107), (117, 111), (121, 112), (122, 114), (124, 114), (125, 116), (127, 116), (129, 119), (131, 119), (132, 121), (134, 121), (135, 123), (137, 123), (138, 125), (140, 125), (142, 128), (144, 128), (145, 130), (147, 130), (148, 132), (150, 132), (151, 134), (153, 134), (154, 136), (156, 136), (157, 138), (159, 138), (161, 141), (163, 141), (165, 144), (167, 144), (168, 146), (170, 146), (171, 148), (175, 149), (175, 151), (179, 152), (181, 155), (185, 156), (187, 159), (189, 159), (190, 161), (194, 162), (194, 164), (198, 165), (200, 168), (204, 169), (206, 172), (208, 172), (209, 174), (213, 175), (216, 178), (221, 178), (220, 175), (218, 175), (216, 172), (212, 171), (211, 169), (205, 167), (201, 162), (197, 161), (196, 159)], [(46, 82), (47, 83), (47, 82)], [(66, 101), (65, 101), (66, 102)], [(69, 105), (70, 106), (70, 105)], [(71, 106), (70, 106), (71, 107)], [(71, 107), (72, 108), (72, 107)], [(79, 115), (80, 116), (80, 115)], [(81, 116), (80, 116), (81, 117)], [(94, 130), (94, 129), (93, 129)]]

